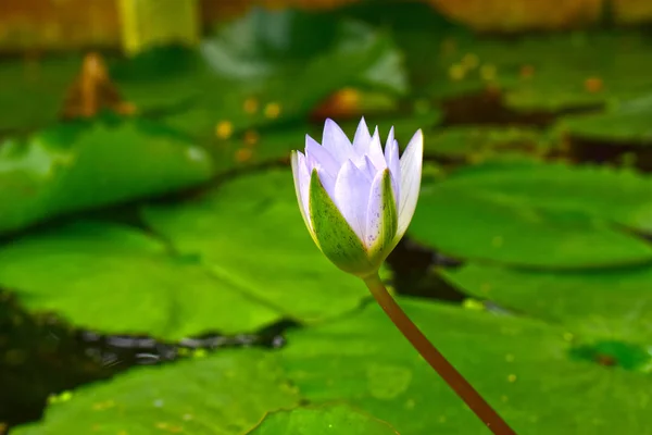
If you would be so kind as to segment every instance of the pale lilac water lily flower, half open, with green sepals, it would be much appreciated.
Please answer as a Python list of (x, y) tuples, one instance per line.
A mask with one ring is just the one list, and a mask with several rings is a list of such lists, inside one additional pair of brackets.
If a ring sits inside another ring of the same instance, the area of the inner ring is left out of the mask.
[(421, 129), (399, 159), (393, 127), (385, 152), (378, 127), (362, 119), (353, 142), (326, 120), (322, 145), (305, 137), (305, 153), (292, 151), (299, 208), (324, 254), (341, 270), (367, 277), (397, 246), (416, 208), (423, 162)]

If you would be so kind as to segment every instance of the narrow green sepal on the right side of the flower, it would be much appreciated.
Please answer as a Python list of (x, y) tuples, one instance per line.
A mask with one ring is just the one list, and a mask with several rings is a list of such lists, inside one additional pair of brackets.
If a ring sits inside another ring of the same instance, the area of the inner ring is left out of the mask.
[(396, 236), (399, 231), (399, 213), (397, 211), (397, 201), (394, 199), (393, 189), (391, 187), (391, 175), (389, 170), (383, 172), (380, 192), (381, 203), (380, 209), (381, 221), (378, 238), (368, 248), (368, 257), (373, 263), (381, 263), (387, 256), (396, 247)]

